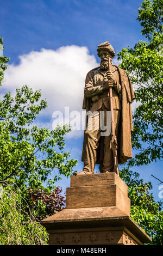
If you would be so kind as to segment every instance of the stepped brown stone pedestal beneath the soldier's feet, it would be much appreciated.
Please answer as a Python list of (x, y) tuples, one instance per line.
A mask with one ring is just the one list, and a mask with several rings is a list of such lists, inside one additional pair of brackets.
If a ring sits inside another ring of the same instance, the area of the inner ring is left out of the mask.
[(143, 245), (151, 238), (130, 218), (128, 187), (116, 173), (71, 176), (66, 209), (41, 221), (49, 245)]

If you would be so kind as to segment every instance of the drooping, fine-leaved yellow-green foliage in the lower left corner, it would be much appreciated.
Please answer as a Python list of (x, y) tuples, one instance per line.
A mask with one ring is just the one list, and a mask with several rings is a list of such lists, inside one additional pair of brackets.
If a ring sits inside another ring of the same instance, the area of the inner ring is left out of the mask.
[(0, 182), (0, 188), (0, 245), (47, 245), (46, 229), (36, 222), (21, 193), (7, 182)]

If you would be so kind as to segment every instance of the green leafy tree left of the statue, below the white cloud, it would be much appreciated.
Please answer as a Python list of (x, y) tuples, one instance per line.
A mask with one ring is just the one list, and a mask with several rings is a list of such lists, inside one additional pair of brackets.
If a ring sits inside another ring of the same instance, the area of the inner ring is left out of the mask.
[[(15, 97), (7, 93), (0, 100), (0, 180), (10, 179), (23, 191), (26, 187), (42, 188), (43, 182), (53, 190), (60, 175), (70, 176), (77, 163), (68, 160), (70, 153), (64, 152), (69, 126), (52, 131), (32, 126), (36, 115), (47, 106), (40, 97), (40, 90), (33, 92), (23, 86), (16, 89)], [(54, 169), (59, 174), (54, 175)]]

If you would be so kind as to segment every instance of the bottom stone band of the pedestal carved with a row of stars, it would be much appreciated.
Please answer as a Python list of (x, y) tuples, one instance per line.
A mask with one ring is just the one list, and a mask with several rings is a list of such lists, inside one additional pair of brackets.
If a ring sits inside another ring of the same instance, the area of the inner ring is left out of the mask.
[[(51, 231), (50, 231), (51, 232)], [(143, 245), (124, 227), (50, 233), (49, 245)]]

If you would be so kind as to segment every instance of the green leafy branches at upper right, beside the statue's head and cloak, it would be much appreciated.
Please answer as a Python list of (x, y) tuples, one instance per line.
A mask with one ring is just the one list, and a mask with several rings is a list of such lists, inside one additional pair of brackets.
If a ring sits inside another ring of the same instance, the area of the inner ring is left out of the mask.
[(133, 148), (138, 150), (129, 166), (140, 166), (162, 158), (163, 120), (163, 0), (145, 0), (137, 20), (148, 41), (118, 53), (121, 68), (126, 70), (135, 87), (139, 107), (134, 113)]

